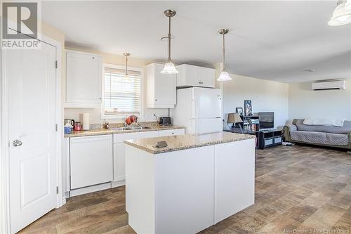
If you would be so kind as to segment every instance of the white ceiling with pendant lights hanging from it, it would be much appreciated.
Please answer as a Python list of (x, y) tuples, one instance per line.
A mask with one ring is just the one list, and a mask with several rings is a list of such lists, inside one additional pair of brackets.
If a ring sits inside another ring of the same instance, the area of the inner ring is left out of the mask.
[[(164, 62), (172, 18), (175, 63), (213, 65), (280, 82), (351, 78), (351, 25), (327, 25), (336, 1), (44, 1), (42, 17), (67, 46)], [(314, 69), (315, 72), (305, 72)]]

